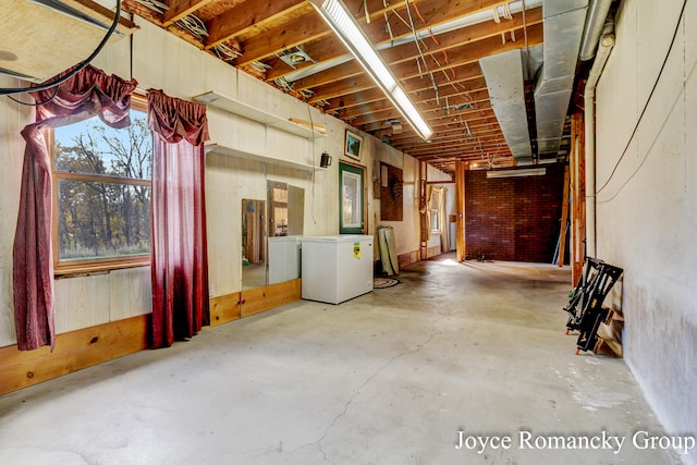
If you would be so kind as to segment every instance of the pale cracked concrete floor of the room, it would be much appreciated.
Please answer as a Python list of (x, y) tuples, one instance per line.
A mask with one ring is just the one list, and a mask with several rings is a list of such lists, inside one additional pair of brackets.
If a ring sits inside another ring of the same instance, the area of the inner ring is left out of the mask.
[[(574, 355), (568, 270), (441, 259), (400, 279), (1, 396), (0, 463), (680, 463), (632, 443), (664, 431), (624, 363)], [(549, 439), (603, 435), (619, 453)]]

